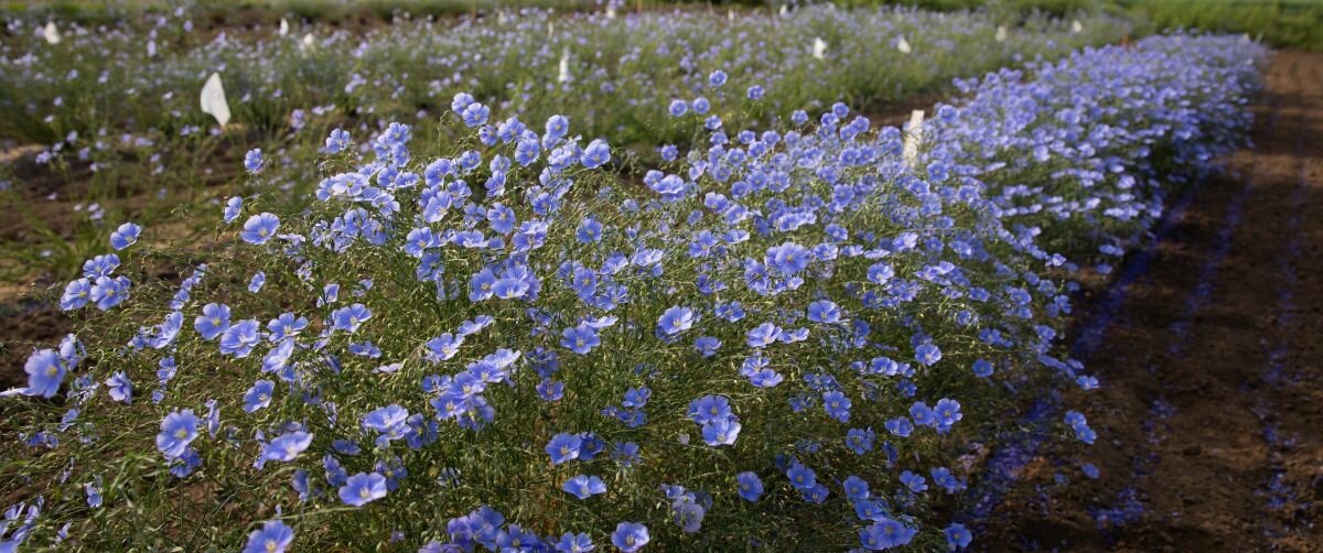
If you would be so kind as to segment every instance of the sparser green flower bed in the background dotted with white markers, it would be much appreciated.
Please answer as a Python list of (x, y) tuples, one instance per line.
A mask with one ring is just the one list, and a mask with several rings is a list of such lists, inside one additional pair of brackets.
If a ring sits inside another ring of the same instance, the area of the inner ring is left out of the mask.
[(0, 138), (50, 144), (77, 132), (111, 142), (105, 132), (127, 131), (161, 144), (205, 136), (213, 122), (197, 112), (196, 90), (220, 71), (234, 120), (270, 131), (327, 114), (435, 116), (445, 110), (438, 99), (470, 91), (529, 120), (561, 114), (578, 132), (655, 144), (671, 131), (656, 106), (704, 93), (713, 69), (741, 91), (762, 86), (759, 114), (786, 115), (836, 99), (898, 99), (1131, 32), (1122, 19), (1080, 17), (1074, 29), (1040, 16), (1005, 28), (991, 13), (912, 8), (815, 5), (729, 19), (709, 9), (618, 17), (527, 9), (401, 17), (373, 29), (295, 21), (280, 36), (271, 26), (202, 32), (180, 8), (147, 22), (65, 28), (54, 45), (42, 40), (48, 21), (16, 20), (0, 42), (0, 107), (11, 114)]

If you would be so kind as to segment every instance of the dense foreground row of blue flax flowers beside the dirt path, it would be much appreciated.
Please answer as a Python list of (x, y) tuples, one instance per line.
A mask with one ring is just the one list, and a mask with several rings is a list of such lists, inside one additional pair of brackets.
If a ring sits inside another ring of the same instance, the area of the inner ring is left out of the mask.
[[(964, 83), (922, 132), (840, 103), (767, 130), (671, 105), (697, 146), (642, 183), (570, 119), (468, 94), (458, 143), (333, 132), (316, 202), (232, 198), (238, 239), (177, 287), (134, 286), (180, 259), (132, 224), (69, 283), (86, 327), (8, 393), (46, 401), (11, 407), (30, 499), (3, 536), (967, 546), (950, 513), (1008, 390), (1098, 385), (1057, 355), (1062, 279), (1237, 143), (1262, 54), (1089, 49)], [(703, 86), (757, 108), (726, 79)], [(261, 179), (262, 153), (245, 165)]]

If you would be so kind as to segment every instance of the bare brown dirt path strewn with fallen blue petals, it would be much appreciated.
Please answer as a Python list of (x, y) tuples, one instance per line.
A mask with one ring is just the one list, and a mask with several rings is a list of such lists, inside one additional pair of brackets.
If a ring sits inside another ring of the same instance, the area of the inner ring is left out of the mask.
[(1097, 443), (1044, 452), (983, 548), (1323, 552), (1323, 54), (1277, 53), (1266, 85), (1256, 147), (1203, 184), (1085, 360)]

